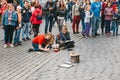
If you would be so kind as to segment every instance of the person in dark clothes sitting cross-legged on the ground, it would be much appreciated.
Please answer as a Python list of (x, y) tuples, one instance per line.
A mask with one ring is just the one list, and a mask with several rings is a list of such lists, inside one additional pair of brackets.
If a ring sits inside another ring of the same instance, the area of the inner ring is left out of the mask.
[(62, 31), (56, 37), (56, 43), (60, 45), (62, 49), (68, 49), (74, 47), (74, 41), (70, 38), (70, 33), (66, 25), (62, 27)]

